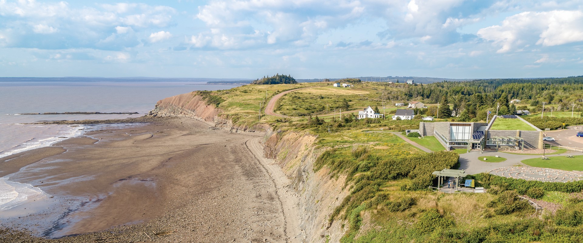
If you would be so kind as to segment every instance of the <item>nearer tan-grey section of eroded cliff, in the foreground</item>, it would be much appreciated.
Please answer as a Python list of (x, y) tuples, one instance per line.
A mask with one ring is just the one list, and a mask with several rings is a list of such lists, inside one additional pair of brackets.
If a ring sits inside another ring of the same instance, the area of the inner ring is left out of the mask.
[(343, 188), (346, 177), (330, 178), (327, 168), (313, 170), (319, 154), (324, 152), (314, 146), (316, 139), (306, 133), (280, 135), (269, 130), (265, 135), (265, 156), (277, 161), (300, 194), (304, 242), (339, 242), (347, 228), (342, 227), (342, 220), (332, 224), (328, 220), (349, 190)]

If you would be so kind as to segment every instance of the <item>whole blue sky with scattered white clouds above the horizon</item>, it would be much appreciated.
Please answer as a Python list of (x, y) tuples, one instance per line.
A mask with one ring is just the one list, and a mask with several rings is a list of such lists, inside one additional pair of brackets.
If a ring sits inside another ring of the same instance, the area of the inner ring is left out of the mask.
[(0, 0), (0, 76), (583, 75), (583, 0)]

